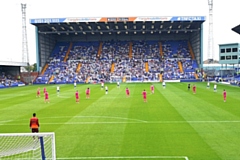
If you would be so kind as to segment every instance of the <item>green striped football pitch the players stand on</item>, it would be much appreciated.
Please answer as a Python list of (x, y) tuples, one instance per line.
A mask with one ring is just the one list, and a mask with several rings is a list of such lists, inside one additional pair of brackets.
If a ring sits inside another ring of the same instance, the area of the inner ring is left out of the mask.
[[(150, 85), (155, 93), (150, 93)], [(205, 82), (32, 85), (0, 90), (0, 133), (55, 132), (57, 159), (239, 160), (240, 88)], [(36, 97), (37, 88), (41, 97)], [(50, 103), (44, 103), (43, 88)], [(85, 90), (90, 88), (90, 99)], [(125, 89), (130, 90), (126, 98)], [(142, 91), (147, 91), (143, 102)], [(227, 101), (223, 101), (223, 89)], [(75, 102), (75, 91), (80, 103)], [(1, 145), (1, 144), (0, 144)]]

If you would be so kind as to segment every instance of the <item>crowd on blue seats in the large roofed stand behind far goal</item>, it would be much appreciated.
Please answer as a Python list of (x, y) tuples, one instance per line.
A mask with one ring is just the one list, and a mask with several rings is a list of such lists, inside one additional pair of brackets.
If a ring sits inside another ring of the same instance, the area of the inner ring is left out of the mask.
[[(163, 56), (157, 41), (133, 41), (132, 58), (129, 56), (130, 43), (125, 41), (74, 43), (67, 61), (69, 44), (59, 45), (50, 57), (48, 68), (37, 81), (48, 81), (54, 76), (54, 83), (73, 83), (91, 81), (112, 81), (112, 77), (131, 77), (132, 80), (194, 79), (194, 61), (186, 41), (165, 41), (162, 43)], [(178, 61), (181, 61), (183, 72)], [(81, 64), (77, 72), (78, 65)], [(111, 66), (114, 70), (111, 72)], [(41, 79), (41, 80), (40, 80)]]

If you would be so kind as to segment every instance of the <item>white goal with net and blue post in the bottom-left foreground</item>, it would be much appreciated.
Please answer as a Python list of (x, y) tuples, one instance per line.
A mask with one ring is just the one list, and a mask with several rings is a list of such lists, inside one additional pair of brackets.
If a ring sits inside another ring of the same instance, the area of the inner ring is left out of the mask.
[(56, 160), (54, 133), (0, 134), (1, 160)]

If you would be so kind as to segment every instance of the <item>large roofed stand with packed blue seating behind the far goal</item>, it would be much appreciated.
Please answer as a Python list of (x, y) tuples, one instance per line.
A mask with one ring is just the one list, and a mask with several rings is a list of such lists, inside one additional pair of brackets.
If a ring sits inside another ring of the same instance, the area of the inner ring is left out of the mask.
[(35, 83), (198, 79), (204, 16), (30, 19)]

